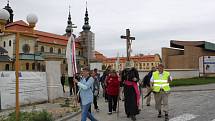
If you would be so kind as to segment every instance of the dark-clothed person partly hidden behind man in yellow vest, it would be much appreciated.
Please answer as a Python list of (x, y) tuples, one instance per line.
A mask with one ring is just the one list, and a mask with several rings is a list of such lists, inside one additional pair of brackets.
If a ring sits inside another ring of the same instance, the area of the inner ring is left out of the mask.
[[(152, 73), (155, 71), (156, 71), (156, 68), (152, 67), (151, 71), (143, 78), (142, 86), (146, 87), (147, 89), (146, 94), (148, 94), (151, 91), (150, 79), (152, 77)], [(147, 96), (146, 106), (150, 106), (150, 102), (151, 102), (151, 94)]]

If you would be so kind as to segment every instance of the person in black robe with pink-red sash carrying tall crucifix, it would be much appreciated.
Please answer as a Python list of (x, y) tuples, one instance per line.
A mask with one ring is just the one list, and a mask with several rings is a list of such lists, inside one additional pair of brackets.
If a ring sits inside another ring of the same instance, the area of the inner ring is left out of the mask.
[(125, 113), (128, 118), (130, 117), (132, 121), (135, 121), (135, 116), (139, 114), (138, 106), (140, 99), (140, 92), (137, 85), (139, 81), (139, 74), (137, 69), (134, 68), (134, 64), (130, 60), (131, 40), (135, 40), (135, 38), (130, 37), (129, 29), (126, 29), (126, 36), (121, 36), (121, 38), (127, 40), (127, 62), (125, 69), (121, 74), (121, 85), (124, 86)]

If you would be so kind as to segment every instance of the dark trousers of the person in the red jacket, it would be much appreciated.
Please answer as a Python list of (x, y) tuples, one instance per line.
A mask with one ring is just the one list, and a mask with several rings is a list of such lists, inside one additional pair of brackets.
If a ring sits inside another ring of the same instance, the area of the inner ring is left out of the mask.
[(117, 106), (117, 98), (118, 95), (108, 95), (108, 108), (109, 112), (116, 111), (116, 106)]

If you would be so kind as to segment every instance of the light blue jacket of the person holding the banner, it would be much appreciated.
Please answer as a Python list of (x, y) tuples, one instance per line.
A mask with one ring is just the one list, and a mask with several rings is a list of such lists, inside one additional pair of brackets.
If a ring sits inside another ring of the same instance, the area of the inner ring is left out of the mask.
[(81, 78), (81, 81), (78, 82), (82, 105), (87, 105), (93, 102), (93, 83), (94, 79), (92, 77), (90, 77), (88, 81), (83, 77)]

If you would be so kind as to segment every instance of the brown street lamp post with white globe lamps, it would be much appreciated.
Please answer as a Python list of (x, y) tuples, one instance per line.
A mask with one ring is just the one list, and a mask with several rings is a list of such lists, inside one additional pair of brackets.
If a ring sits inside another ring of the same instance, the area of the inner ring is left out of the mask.
[(34, 14), (29, 14), (27, 16), (27, 22), (29, 23), (29, 27), (31, 27), (31, 31), (18, 31), (18, 30), (5, 30), (5, 24), (9, 19), (10, 14), (7, 10), (0, 10), (0, 33), (14, 33), (16, 34), (16, 61), (15, 61), (15, 75), (16, 75), (16, 121), (19, 120), (19, 38), (20, 34), (34, 34), (34, 27), (37, 23), (37, 16)]

